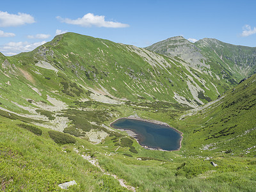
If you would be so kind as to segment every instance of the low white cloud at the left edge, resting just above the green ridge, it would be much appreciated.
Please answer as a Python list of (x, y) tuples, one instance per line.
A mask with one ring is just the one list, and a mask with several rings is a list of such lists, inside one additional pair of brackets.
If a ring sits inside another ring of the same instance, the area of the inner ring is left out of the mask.
[(20, 52), (28, 52), (33, 51), (36, 47), (45, 44), (46, 42), (9, 42), (5, 44), (3, 47), (0, 47), (0, 51), (3, 52), (4, 55), (10, 56), (13, 54), (18, 54)]

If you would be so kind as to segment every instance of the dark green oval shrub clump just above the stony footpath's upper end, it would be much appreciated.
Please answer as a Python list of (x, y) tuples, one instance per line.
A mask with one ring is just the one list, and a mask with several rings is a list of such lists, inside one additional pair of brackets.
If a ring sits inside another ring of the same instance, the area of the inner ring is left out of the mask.
[(63, 132), (59, 131), (48, 131), (49, 136), (55, 143), (59, 143), (61, 145), (67, 144), (67, 143), (76, 143), (76, 139), (72, 136), (65, 134)]

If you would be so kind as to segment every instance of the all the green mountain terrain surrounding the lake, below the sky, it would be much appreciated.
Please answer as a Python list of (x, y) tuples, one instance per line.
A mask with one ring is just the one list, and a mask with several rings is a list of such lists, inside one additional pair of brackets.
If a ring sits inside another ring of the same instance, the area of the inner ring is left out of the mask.
[[(75, 180), (68, 191), (255, 191), (255, 48), (165, 43), (158, 54), (65, 33), (0, 54), (1, 190)], [(181, 131), (180, 150), (148, 150), (109, 126), (131, 115)]]

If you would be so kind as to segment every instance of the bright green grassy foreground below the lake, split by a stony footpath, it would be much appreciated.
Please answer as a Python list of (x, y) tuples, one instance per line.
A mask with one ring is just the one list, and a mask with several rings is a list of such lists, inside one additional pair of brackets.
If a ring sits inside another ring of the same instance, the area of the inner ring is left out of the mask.
[[(129, 152), (129, 147), (115, 152), (113, 136), (99, 145), (80, 138), (75, 144), (56, 144), (49, 129), (38, 127), (42, 130), (38, 136), (17, 126), (19, 120), (2, 117), (0, 122), (3, 191), (61, 191), (58, 184), (70, 180), (76, 180), (77, 186), (68, 191), (127, 191), (79, 154), (99, 159), (104, 170), (124, 179), (136, 191), (255, 191), (255, 157), (214, 154), (210, 160), (218, 164), (214, 167), (205, 157), (184, 157), (184, 151), (146, 150), (135, 142), (138, 154)], [(127, 153), (132, 157), (124, 155)]]

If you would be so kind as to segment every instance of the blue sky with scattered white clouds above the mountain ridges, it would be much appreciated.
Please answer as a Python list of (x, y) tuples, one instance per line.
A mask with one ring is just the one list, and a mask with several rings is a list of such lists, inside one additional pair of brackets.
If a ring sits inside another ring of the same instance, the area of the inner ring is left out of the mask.
[(2, 1), (0, 52), (31, 51), (75, 32), (146, 47), (182, 35), (256, 47), (256, 1)]

